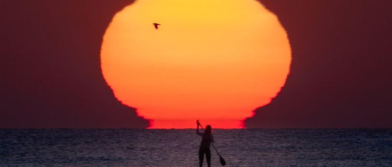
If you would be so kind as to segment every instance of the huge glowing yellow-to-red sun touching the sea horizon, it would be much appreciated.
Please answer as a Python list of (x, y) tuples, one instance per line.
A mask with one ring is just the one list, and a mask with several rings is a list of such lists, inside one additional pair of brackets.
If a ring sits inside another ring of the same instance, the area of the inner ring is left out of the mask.
[[(156, 29), (153, 23), (158, 23)], [(285, 84), (289, 40), (255, 0), (137, 0), (103, 36), (102, 73), (150, 128), (243, 128)]]

